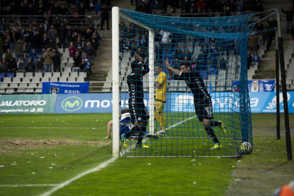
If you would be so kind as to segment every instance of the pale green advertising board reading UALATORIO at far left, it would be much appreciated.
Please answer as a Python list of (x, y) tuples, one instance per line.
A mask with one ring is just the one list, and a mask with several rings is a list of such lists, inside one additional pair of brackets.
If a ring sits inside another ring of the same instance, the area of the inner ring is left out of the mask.
[(56, 95), (0, 95), (0, 114), (54, 113)]

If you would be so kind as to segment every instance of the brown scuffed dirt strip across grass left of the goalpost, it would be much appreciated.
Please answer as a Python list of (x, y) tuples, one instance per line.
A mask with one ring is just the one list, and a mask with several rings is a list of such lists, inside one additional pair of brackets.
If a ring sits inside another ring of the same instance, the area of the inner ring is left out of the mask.
[(60, 145), (92, 145), (105, 146), (111, 142), (106, 141), (72, 141), (63, 139), (32, 140), (32, 139), (7, 139), (0, 138), (0, 153), (6, 154), (9, 151), (29, 148), (54, 148)]

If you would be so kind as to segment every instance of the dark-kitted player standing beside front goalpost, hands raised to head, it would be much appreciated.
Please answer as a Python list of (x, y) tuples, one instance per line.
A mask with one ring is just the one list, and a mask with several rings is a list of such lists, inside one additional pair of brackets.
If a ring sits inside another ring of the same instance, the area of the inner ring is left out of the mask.
[[(137, 122), (137, 125), (131, 129), (130, 132), (121, 135), (121, 138), (126, 141), (126, 138), (130, 137), (132, 133), (139, 133), (136, 146), (149, 148), (142, 143), (143, 135), (146, 132), (149, 115), (144, 104), (144, 91), (142, 76), (149, 72), (149, 66), (145, 64), (139, 54), (136, 54), (136, 60), (131, 63), (131, 74), (127, 76), (127, 84), (129, 91), (129, 109), (132, 120)], [(126, 147), (126, 142), (124, 142)]]

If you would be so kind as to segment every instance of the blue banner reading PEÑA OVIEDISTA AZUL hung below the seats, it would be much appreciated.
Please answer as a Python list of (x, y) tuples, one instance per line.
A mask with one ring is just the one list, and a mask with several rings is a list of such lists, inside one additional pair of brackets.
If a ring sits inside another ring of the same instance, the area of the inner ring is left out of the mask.
[(43, 82), (42, 94), (80, 94), (89, 93), (89, 82)]

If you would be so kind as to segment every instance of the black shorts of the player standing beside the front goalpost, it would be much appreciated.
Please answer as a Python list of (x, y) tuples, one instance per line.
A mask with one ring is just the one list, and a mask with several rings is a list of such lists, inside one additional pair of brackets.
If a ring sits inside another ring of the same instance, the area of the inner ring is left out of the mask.
[(136, 103), (134, 105), (129, 103), (129, 109), (132, 120), (135, 120), (136, 122), (144, 122), (149, 119), (149, 114), (144, 103)]

